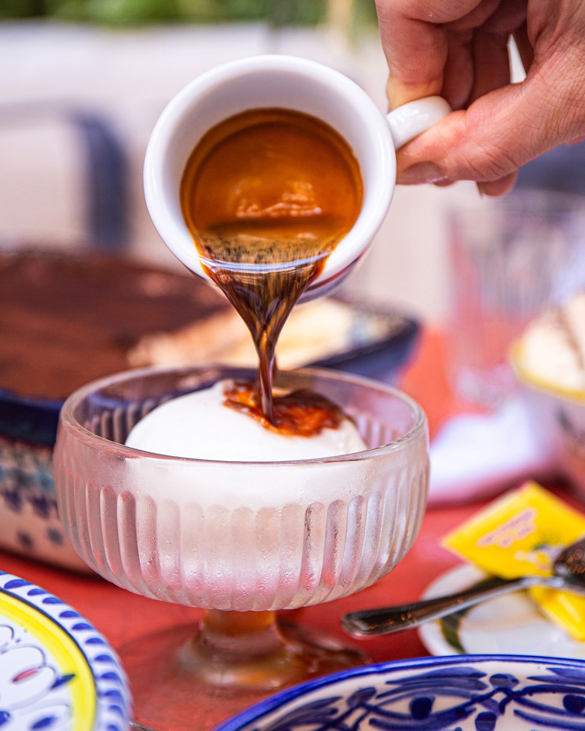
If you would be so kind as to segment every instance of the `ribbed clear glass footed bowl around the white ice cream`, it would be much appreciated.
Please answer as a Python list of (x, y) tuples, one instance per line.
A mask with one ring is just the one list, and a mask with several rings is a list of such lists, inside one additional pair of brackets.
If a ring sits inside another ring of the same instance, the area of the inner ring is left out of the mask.
[(69, 539), (95, 571), (143, 596), (205, 609), (200, 626), (121, 648), (137, 721), (203, 729), (264, 694), (365, 662), (337, 640), (277, 624), (275, 610), (365, 588), (404, 557), (426, 504), (426, 418), (396, 390), (333, 371), (279, 374), (355, 419), (365, 452), (235, 463), (124, 447), (170, 398), (240, 368), (131, 371), (88, 385), (61, 412), (54, 472)]

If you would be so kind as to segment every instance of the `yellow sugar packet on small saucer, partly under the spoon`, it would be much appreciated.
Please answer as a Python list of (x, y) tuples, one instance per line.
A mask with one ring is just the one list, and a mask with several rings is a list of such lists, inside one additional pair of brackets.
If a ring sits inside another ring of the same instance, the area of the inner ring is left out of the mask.
[[(585, 535), (585, 515), (527, 482), (445, 536), (442, 545), (484, 571), (504, 578), (551, 573), (555, 556)], [(549, 618), (575, 640), (585, 640), (585, 597), (547, 588), (531, 590)]]

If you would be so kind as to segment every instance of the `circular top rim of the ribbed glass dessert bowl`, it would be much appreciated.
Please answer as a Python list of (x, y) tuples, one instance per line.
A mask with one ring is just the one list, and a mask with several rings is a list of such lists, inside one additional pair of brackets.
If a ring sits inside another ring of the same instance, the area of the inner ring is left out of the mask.
[[(159, 366), (147, 366), (146, 368), (132, 368), (127, 371), (120, 371), (105, 378), (100, 378), (92, 381), (85, 386), (82, 386), (75, 390), (71, 395), (64, 401), (61, 413), (59, 414), (59, 431), (61, 429), (67, 430), (69, 433), (74, 433), (76, 439), (84, 442), (86, 445), (94, 447), (98, 450), (107, 450), (118, 457), (124, 458), (138, 458), (148, 459), (154, 462), (177, 462), (177, 463), (194, 463), (194, 464), (208, 464), (208, 465), (226, 465), (226, 466), (263, 466), (265, 469), (275, 466), (302, 466), (302, 465), (315, 465), (315, 464), (328, 464), (328, 463), (344, 463), (354, 461), (366, 461), (377, 456), (388, 454), (388, 452), (396, 452), (403, 450), (410, 444), (418, 439), (421, 434), (426, 434), (427, 431), (427, 420), (426, 414), (423, 409), (417, 404), (417, 402), (410, 398), (407, 394), (403, 393), (398, 388), (388, 386), (385, 383), (375, 381), (374, 379), (364, 378), (363, 376), (355, 376), (353, 374), (346, 374), (340, 371), (333, 371), (329, 368), (298, 368), (293, 371), (282, 371), (283, 373), (298, 374), (301, 376), (319, 376), (328, 379), (341, 380), (346, 383), (355, 384), (363, 387), (375, 387), (377, 390), (382, 390), (387, 395), (393, 396), (403, 404), (406, 404), (413, 416), (415, 417), (415, 423), (412, 427), (399, 436), (398, 439), (393, 439), (392, 442), (387, 444), (381, 444), (380, 447), (373, 447), (369, 450), (363, 450), (361, 452), (350, 452), (349, 454), (336, 455), (333, 457), (322, 457), (312, 458), (305, 460), (289, 460), (289, 461), (276, 461), (276, 462), (243, 462), (243, 461), (227, 461), (227, 460), (208, 460), (194, 457), (175, 457), (172, 455), (161, 455), (156, 452), (146, 452), (144, 450), (135, 449), (135, 447), (127, 447), (125, 444), (118, 444), (113, 442), (111, 439), (106, 439), (104, 436), (97, 436), (93, 432), (86, 429), (81, 425), (78, 420), (73, 417), (73, 410), (83, 401), (84, 398), (98, 390), (105, 388), (116, 382), (124, 382), (131, 379), (136, 379), (151, 374), (192, 374), (194, 371), (203, 371), (204, 369), (227, 370), (230, 371), (250, 371), (251, 368), (239, 368), (238, 366), (227, 366), (226, 364), (214, 364), (206, 363), (200, 366), (168, 366), (161, 368)], [(59, 441), (59, 434), (58, 434)]]

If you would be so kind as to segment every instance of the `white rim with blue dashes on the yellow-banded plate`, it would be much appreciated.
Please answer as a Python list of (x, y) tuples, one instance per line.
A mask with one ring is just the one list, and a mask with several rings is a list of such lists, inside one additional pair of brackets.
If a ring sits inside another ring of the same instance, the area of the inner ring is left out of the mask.
[(132, 717), (128, 682), (103, 635), (59, 597), (18, 576), (0, 571), (0, 591), (34, 607), (78, 646), (96, 687), (96, 719), (92, 731), (127, 731)]

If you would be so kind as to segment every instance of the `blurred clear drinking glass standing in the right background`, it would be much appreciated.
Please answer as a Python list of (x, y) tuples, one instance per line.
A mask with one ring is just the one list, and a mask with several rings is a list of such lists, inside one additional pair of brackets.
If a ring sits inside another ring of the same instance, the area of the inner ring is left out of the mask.
[(451, 366), (472, 404), (497, 405), (513, 390), (512, 341), (584, 287), (584, 211), (581, 197), (526, 189), (451, 211)]

